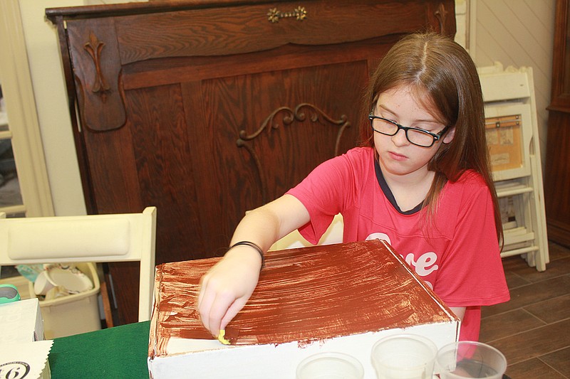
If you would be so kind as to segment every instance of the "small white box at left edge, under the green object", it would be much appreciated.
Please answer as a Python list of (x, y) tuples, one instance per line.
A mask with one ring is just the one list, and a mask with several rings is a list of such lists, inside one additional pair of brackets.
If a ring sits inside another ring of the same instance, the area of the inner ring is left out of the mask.
[(38, 299), (0, 304), (0, 346), (43, 339), (43, 322)]

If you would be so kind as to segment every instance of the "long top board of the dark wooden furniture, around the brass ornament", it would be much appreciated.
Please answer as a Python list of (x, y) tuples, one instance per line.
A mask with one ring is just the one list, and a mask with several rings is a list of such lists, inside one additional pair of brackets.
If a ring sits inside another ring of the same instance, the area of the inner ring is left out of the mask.
[[(303, 5), (303, 21), (280, 18), (268, 22), (271, 9), (299, 8), (289, 1), (118, 18), (120, 60), (124, 65), (152, 58), (252, 53), (288, 44), (350, 43), (405, 33), (426, 24), (426, 14), (418, 12), (418, 1), (336, 0), (334, 6), (325, 1), (307, 1)], [(371, 16), (380, 14), (382, 22), (371, 22)]]

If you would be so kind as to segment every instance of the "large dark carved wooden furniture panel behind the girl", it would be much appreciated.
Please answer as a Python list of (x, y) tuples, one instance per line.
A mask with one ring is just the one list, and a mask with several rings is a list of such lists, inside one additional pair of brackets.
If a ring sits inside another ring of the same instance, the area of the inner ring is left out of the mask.
[(246, 210), (358, 144), (363, 90), (395, 41), (455, 34), (452, 0), (179, 0), (46, 14), (78, 119), (88, 213), (157, 206), (157, 264), (222, 254)]

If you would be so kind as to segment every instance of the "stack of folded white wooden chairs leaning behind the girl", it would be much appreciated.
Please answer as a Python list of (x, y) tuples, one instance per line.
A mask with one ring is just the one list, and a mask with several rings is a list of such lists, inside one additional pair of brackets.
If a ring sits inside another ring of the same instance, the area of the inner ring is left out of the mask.
[(523, 255), (531, 267), (549, 262), (544, 189), (532, 68), (479, 68), (487, 144), (501, 205), (502, 257)]

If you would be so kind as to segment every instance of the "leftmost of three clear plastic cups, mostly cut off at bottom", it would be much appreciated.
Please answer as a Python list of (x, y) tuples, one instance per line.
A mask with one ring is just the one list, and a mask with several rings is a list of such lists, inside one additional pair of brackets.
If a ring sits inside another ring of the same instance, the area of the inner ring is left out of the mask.
[(358, 359), (344, 353), (317, 353), (297, 366), (297, 379), (362, 379), (364, 368)]

